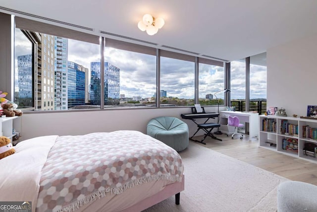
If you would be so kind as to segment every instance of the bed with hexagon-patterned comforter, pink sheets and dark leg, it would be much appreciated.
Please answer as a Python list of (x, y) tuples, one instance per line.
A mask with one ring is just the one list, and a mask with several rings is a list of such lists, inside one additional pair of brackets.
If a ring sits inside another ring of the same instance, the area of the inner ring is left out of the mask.
[(139, 212), (184, 190), (179, 154), (137, 131), (44, 136), (0, 160), (0, 200), (32, 212)]

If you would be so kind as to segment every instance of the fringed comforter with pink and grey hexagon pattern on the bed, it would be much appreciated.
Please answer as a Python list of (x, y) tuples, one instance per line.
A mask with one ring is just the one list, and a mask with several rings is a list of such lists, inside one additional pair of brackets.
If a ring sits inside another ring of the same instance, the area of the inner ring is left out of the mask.
[(41, 172), (37, 212), (74, 211), (127, 188), (166, 179), (180, 182), (179, 154), (137, 131), (57, 137)]

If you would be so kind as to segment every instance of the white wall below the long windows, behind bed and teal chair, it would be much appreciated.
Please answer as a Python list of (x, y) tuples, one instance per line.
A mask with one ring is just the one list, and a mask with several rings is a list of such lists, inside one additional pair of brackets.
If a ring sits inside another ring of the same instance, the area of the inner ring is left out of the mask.
[[(206, 107), (206, 112), (216, 112), (217, 107)], [(224, 109), (224, 108), (222, 108)], [(189, 135), (193, 135), (197, 126), (191, 120), (180, 117), (182, 113), (191, 113), (187, 108), (153, 108), (131, 110), (79, 111), (60, 113), (32, 113), (21, 117), (22, 140), (47, 135), (84, 135), (94, 132), (116, 130), (137, 130), (146, 133), (148, 122), (159, 116), (172, 116), (186, 122)], [(197, 120), (203, 123), (205, 119)], [(211, 119), (210, 122), (217, 122)], [(203, 131), (197, 135), (202, 135)]]

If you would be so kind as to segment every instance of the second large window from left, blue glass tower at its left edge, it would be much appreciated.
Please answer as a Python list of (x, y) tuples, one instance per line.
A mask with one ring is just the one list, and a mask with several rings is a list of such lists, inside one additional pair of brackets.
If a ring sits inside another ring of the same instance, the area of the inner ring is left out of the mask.
[(155, 107), (155, 49), (120, 43), (106, 39), (105, 107)]

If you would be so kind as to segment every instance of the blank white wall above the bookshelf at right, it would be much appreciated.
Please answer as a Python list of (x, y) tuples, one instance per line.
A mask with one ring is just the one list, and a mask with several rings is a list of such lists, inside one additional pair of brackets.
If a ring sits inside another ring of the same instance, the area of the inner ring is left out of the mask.
[(268, 49), (266, 57), (267, 106), (306, 116), (307, 105), (317, 105), (317, 35)]

